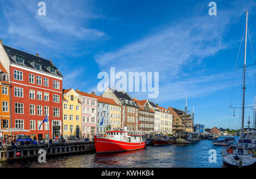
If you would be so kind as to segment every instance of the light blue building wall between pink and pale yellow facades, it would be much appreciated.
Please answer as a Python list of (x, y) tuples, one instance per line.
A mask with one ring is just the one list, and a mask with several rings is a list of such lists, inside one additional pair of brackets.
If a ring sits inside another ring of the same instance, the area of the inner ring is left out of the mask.
[[(102, 117), (104, 123), (100, 125)], [(105, 127), (110, 126), (110, 104), (100, 103), (97, 104), (97, 133), (105, 132)]]

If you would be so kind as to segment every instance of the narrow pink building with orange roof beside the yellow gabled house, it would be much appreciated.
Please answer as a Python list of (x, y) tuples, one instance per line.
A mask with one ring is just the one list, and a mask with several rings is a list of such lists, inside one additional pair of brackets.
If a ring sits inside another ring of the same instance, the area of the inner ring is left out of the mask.
[(93, 139), (97, 133), (97, 99), (94, 95), (76, 90), (81, 106), (81, 131), (82, 137)]

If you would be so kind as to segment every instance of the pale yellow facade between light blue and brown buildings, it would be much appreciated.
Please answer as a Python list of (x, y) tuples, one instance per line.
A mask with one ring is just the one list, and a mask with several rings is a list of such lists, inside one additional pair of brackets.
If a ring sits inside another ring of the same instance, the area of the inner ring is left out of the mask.
[(110, 105), (110, 125), (112, 130), (121, 129), (121, 106)]

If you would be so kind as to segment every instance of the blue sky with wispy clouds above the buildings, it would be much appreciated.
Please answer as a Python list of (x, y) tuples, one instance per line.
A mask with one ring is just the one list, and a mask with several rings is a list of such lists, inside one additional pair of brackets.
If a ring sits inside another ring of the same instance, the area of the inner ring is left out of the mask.
[[(46, 16), (37, 14), (39, 2), (1, 1), (0, 39), (5, 45), (52, 59), (64, 76), (64, 88), (100, 95), (97, 75), (110, 67), (117, 72), (158, 71), (159, 97), (151, 101), (184, 109), (187, 97), (188, 110), (195, 107), (196, 123), (240, 126), (240, 110), (233, 117), (230, 109), (230, 103), (238, 106), (241, 101), (241, 69), (234, 73), (234, 66), (246, 9), (255, 51), (254, 1), (215, 1), (217, 16), (208, 15), (210, 1), (44, 1)], [(250, 44), (247, 50), (251, 64)], [(255, 67), (246, 74), (246, 105), (251, 105)], [(147, 93), (130, 95), (147, 99)], [(249, 116), (251, 108), (246, 109)]]

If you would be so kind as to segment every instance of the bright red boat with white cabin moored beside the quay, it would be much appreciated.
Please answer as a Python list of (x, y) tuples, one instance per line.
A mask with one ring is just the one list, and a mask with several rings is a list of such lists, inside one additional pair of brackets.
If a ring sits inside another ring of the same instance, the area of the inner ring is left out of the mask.
[(128, 135), (126, 131), (107, 131), (104, 135), (94, 136), (97, 153), (123, 152), (146, 147), (142, 135)]

